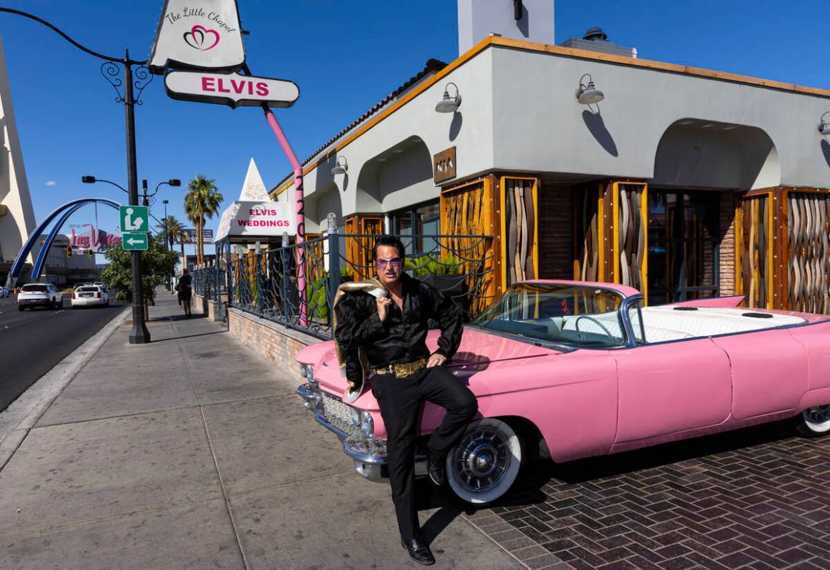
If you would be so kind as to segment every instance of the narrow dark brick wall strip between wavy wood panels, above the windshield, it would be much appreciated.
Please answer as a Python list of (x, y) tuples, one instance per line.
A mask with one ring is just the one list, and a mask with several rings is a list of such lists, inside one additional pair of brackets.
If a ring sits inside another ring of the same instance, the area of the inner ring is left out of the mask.
[(539, 200), (539, 277), (574, 278), (574, 205), (570, 186), (543, 184)]

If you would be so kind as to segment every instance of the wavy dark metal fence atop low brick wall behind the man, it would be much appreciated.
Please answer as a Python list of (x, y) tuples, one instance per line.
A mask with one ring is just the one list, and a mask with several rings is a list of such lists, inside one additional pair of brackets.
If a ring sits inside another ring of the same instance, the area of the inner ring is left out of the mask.
[[(373, 277), (372, 249), (379, 234), (324, 234), (303, 244), (232, 254), (226, 270), (193, 272), (198, 295), (229, 307), (331, 338), (331, 303), (340, 283)], [(445, 292), (469, 320), (495, 297), (493, 239), (487, 235), (401, 235), (404, 270)], [(220, 253), (217, 251), (217, 254)], [(197, 277), (198, 275), (198, 277)], [(304, 281), (305, 286), (300, 287)]]

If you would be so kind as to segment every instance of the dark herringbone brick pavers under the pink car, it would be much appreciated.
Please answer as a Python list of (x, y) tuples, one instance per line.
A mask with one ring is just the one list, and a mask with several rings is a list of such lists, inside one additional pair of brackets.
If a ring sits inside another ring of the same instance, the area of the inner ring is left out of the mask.
[(529, 568), (828, 568), (830, 437), (779, 422), (534, 471), (466, 513)]

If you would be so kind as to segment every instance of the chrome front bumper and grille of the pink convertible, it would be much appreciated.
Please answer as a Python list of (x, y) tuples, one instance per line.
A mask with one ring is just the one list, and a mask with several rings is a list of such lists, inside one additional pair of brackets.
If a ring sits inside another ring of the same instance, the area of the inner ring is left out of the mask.
[(329, 418), (320, 413), (320, 389), (311, 384), (302, 384), (297, 388), (297, 395), (303, 400), (303, 406), (314, 412), (314, 418), (324, 428), (334, 433), (343, 442), (343, 451), (354, 460), (354, 471), (369, 481), (388, 481), (388, 456), (386, 454), (386, 440), (373, 439), (362, 433), (348, 433), (330, 422)]

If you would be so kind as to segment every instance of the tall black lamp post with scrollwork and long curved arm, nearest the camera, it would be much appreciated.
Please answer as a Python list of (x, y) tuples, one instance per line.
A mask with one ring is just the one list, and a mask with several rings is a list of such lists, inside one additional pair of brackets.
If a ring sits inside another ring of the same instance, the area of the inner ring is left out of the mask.
[[(127, 181), (129, 188), (129, 205), (139, 205), (139, 182), (136, 175), (135, 159), (134, 115), (134, 107), (137, 99), (134, 96), (133, 88), (135, 87), (138, 89), (140, 99), (141, 92), (147, 85), (149, 85), (149, 82), (153, 80), (153, 76), (150, 75), (149, 70), (144, 66), (147, 61), (130, 59), (129, 50), (125, 51), (125, 56), (123, 58), (105, 56), (97, 51), (92, 51), (88, 47), (81, 46), (80, 43), (73, 40), (70, 36), (67, 36), (66, 33), (50, 22), (46, 22), (46, 20), (37, 17), (34, 14), (30, 14), (29, 12), (23, 12), (22, 10), (15, 10), (14, 8), (6, 7), (0, 7), (0, 12), (7, 12), (9, 14), (15, 14), (17, 16), (34, 20), (35, 22), (48, 27), (52, 31), (55, 31), (66, 41), (69, 41), (73, 46), (76, 46), (79, 50), (85, 51), (90, 54), (90, 56), (95, 56), (98, 59), (105, 61), (105, 63), (101, 65), (101, 75), (104, 75), (104, 78), (110, 82), (110, 85), (112, 85), (113, 89), (115, 89), (115, 92), (118, 94), (115, 101), (117, 103), (124, 104), (127, 137)], [(118, 79), (118, 65), (116, 64), (120, 64), (124, 68), (122, 71), (123, 79)], [(136, 70), (135, 74), (136, 77), (138, 77), (139, 84), (136, 85), (133, 84), (133, 65), (139, 65), (139, 68)], [(119, 91), (120, 87), (124, 88), (123, 96)], [(129, 344), (143, 345), (149, 343), (150, 333), (147, 330), (147, 325), (144, 323), (144, 298), (141, 294), (141, 257), (138, 251), (131, 252), (130, 264), (133, 270), (133, 330), (129, 333)]]

